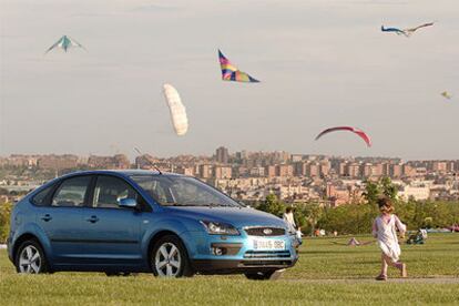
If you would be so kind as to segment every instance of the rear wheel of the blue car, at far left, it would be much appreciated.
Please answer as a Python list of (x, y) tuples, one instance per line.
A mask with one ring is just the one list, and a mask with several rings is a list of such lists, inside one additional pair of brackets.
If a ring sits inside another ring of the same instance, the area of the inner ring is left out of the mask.
[(39, 274), (47, 273), (48, 262), (41, 245), (33, 239), (21, 243), (14, 258), (18, 273)]

